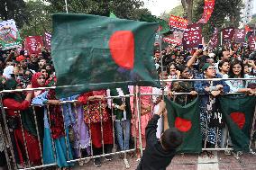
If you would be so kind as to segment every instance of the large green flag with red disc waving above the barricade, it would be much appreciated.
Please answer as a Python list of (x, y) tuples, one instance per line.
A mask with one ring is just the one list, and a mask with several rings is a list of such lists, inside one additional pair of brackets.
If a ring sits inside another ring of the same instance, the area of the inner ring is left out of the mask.
[(52, 16), (57, 96), (123, 85), (159, 86), (153, 42), (157, 23), (89, 14)]

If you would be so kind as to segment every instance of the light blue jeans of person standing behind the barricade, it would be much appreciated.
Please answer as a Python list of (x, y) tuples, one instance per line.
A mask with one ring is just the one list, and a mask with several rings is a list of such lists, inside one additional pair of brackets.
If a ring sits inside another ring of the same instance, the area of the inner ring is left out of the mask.
[(116, 137), (121, 150), (129, 149), (131, 120), (115, 121)]

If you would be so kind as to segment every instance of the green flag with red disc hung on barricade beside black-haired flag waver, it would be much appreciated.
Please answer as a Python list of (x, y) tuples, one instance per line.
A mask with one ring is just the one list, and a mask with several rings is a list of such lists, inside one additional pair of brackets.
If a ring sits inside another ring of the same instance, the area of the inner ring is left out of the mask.
[(169, 127), (175, 127), (183, 133), (183, 143), (178, 148), (181, 153), (200, 153), (202, 137), (199, 126), (198, 97), (187, 105), (179, 105), (166, 98)]

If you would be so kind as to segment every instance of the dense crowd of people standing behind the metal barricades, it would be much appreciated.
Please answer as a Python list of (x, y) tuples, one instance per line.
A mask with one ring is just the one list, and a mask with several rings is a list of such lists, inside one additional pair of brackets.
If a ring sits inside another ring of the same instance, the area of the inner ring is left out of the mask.
[[(161, 59), (162, 57), (162, 63)], [(160, 79), (212, 79), (253, 78), (256, 76), (256, 52), (243, 44), (222, 46), (217, 49), (184, 50), (175, 44), (166, 45), (161, 51), (154, 44), (154, 61)], [(163, 70), (163, 71), (162, 71)], [(27, 55), (23, 49), (0, 49), (1, 90), (54, 86), (57, 78), (50, 58), (50, 51)], [(200, 105), (200, 127), (207, 145), (222, 145), (218, 124), (206, 128), (207, 115), (218, 109), (215, 96), (226, 93), (255, 95), (255, 80), (175, 81), (164, 82), (164, 91), (176, 103), (186, 105), (197, 94)], [(57, 162), (59, 168), (73, 166), (68, 160), (113, 152), (114, 139), (119, 150), (140, 146), (137, 107), (133, 96), (106, 99), (106, 96), (161, 93), (151, 86), (102, 89), (57, 99), (54, 90), (36, 90), (24, 93), (3, 94), (14, 158), (18, 166), (38, 166)], [(175, 93), (187, 93), (175, 95)], [(78, 103), (61, 103), (78, 100)], [(160, 108), (161, 95), (141, 97), (142, 147), (146, 147), (146, 126)], [(31, 107), (31, 104), (33, 107)], [(3, 114), (4, 112), (2, 112)], [(1, 124), (4, 125), (1, 116)], [(114, 127), (114, 129), (113, 129)], [(4, 134), (6, 133), (3, 128)], [(206, 133), (207, 130), (207, 133)], [(163, 131), (161, 117), (156, 137)], [(2, 134), (2, 135), (4, 135)], [(206, 137), (207, 134), (207, 137)], [(133, 140), (133, 138), (137, 138)], [(0, 138), (1, 165), (5, 166), (5, 138)], [(217, 141), (218, 140), (218, 141)], [(133, 141), (133, 142), (132, 142)], [(135, 142), (136, 141), (136, 142)], [(92, 149), (91, 149), (92, 148)], [(25, 153), (25, 154), (24, 154)], [(136, 157), (140, 160), (138, 149)], [(2, 158), (3, 157), (3, 158)], [(94, 159), (96, 167), (102, 158)], [(112, 160), (108, 155), (106, 160)], [(88, 159), (86, 159), (87, 162)], [(83, 164), (84, 162), (80, 163)]]

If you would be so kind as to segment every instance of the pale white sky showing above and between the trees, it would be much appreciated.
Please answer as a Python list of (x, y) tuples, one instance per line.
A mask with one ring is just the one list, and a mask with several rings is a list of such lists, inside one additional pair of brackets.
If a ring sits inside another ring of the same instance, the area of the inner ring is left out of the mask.
[[(143, 0), (144, 7), (148, 8), (153, 15), (160, 16), (161, 13), (169, 12), (181, 4), (181, 0)], [(149, 3), (150, 2), (150, 3)], [(256, 0), (253, 2), (253, 11), (256, 13)]]

